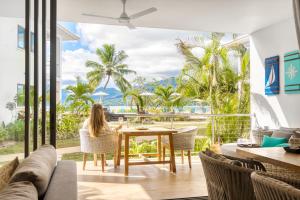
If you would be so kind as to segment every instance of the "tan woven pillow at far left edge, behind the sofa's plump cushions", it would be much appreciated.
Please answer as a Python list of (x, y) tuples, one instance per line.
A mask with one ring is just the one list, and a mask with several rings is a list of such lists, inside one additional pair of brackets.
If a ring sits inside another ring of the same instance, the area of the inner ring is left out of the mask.
[(9, 183), (9, 179), (19, 165), (18, 157), (0, 168), (0, 191)]

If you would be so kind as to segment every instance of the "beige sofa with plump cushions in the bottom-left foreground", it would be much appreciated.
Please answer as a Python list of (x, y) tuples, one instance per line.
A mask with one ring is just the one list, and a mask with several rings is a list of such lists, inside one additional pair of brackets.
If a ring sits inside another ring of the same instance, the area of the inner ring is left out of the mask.
[(53, 146), (41, 146), (18, 164), (7, 185), (0, 190), (0, 199), (76, 200), (76, 163), (57, 161)]

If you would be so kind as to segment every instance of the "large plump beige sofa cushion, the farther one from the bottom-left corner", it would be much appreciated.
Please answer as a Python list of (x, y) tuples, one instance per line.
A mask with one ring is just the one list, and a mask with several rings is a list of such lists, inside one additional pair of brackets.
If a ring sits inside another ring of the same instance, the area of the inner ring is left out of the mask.
[(10, 182), (30, 181), (37, 188), (39, 197), (43, 196), (47, 190), (56, 162), (55, 148), (51, 145), (44, 145), (20, 163)]

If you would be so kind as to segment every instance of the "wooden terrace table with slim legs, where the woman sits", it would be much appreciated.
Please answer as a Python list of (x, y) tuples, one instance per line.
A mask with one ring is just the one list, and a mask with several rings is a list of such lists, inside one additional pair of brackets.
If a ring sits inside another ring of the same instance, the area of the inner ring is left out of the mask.
[[(171, 146), (173, 146), (173, 133), (176, 133), (176, 130), (172, 129), (166, 129), (166, 128), (149, 128), (149, 129), (134, 129), (134, 128), (127, 128), (127, 129), (121, 129), (120, 135), (119, 135), (119, 141), (122, 141), (122, 137), (125, 137), (125, 176), (128, 176), (129, 172), (129, 166), (130, 165), (151, 165), (151, 164), (170, 164), (170, 170), (174, 173), (176, 173), (176, 166), (175, 166), (175, 154), (174, 149), (171, 148), (171, 156), (170, 160), (168, 161), (161, 161), (160, 159), (158, 161), (144, 161), (144, 162), (129, 162), (129, 139), (130, 137), (139, 137), (139, 136), (157, 136), (158, 138), (158, 153), (152, 154), (158, 156), (158, 158), (161, 158), (161, 137), (162, 136), (168, 136), (170, 140)], [(117, 163), (120, 163), (121, 158), (121, 143), (118, 144), (118, 161)]]

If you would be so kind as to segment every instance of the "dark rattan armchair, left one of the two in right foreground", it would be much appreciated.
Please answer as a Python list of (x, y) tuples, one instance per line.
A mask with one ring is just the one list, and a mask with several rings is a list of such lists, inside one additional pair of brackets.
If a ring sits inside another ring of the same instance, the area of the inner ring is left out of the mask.
[(205, 153), (199, 154), (210, 200), (255, 200), (251, 182), (251, 173), (255, 170), (264, 171), (264, 167), (257, 161), (241, 158), (226, 157), (238, 160), (237, 166)]

